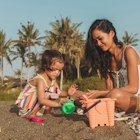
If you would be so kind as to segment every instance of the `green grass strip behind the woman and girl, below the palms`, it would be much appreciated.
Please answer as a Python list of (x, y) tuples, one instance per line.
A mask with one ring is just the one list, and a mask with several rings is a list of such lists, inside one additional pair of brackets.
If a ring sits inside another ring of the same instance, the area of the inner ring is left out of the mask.
[[(77, 84), (78, 89), (81, 91), (87, 91), (87, 89), (105, 89), (104, 79), (100, 80), (97, 76), (64, 82), (63, 90), (67, 90), (72, 84)], [(21, 89), (12, 89), (10, 85), (0, 86), (0, 101), (15, 101), (17, 99)]]

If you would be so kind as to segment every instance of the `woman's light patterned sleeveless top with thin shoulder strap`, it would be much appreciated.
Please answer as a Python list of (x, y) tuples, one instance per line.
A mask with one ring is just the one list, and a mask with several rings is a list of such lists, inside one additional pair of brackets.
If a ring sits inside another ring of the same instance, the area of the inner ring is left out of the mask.
[[(128, 78), (127, 78), (127, 64), (125, 61), (125, 49), (126, 47), (131, 47), (131, 46), (125, 46), (122, 52), (122, 67), (118, 71), (110, 71), (111, 76), (113, 78), (114, 86), (116, 88), (120, 88), (123, 86), (126, 86), (128, 84)], [(132, 47), (133, 48), (133, 47)], [(134, 49), (134, 48), (133, 48)], [(139, 76), (139, 83), (140, 83), (140, 65), (138, 65), (138, 76)], [(140, 95), (140, 87), (138, 88), (138, 92), (136, 96)]]

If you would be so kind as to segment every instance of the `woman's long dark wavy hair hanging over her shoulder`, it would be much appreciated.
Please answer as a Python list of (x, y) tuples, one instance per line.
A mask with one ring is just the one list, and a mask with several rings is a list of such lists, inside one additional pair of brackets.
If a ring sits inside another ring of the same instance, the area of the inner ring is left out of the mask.
[(111, 54), (108, 51), (103, 52), (100, 47), (98, 47), (96, 41), (92, 37), (92, 32), (95, 29), (108, 34), (110, 31), (113, 31), (114, 43), (119, 47), (122, 47), (122, 43), (117, 38), (116, 30), (113, 24), (107, 19), (97, 19), (89, 28), (85, 48), (85, 58), (89, 66), (91, 66), (96, 71), (98, 69), (101, 76), (106, 77), (108, 70), (111, 70)]

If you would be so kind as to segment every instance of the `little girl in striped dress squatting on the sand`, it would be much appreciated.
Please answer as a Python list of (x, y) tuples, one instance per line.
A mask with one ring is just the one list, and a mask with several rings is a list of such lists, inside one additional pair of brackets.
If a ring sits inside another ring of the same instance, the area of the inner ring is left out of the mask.
[(68, 101), (68, 99), (56, 100), (59, 96), (72, 95), (76, 91), (75, 85), (69, 88), (68, 93), (59, 89), (56, 78), (63, 67), (64, 59), (60, 52), (46, 50), (43, 53), (42, 71), (29, 81), (16, 101), (19, 115), (22, 117), (35, 116), (42, 106), (46, 106), (46, 108), (61, 107), (64, 102)]

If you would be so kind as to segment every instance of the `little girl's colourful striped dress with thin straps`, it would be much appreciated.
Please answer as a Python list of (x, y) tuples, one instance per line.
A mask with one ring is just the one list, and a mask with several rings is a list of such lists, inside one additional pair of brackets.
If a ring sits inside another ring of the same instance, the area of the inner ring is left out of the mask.
[[(33, 79), (38, 78), (41, 78), (46, 85), (46, 88), (44, 89), (46, 99), (49, 99), (52, 93), (58, 94), (57, 97), (59, 97), (61, 90), (54, 86), (54, 80), (52, 80), (51, 85), (49, 87), (46, 80), (40, 74), (38, 74)], [(30, 115), (37, 108), (41, 108), (42, 105), (38, 102), (37, 88), (28, 83), (25, 86), (24, 90), (18, 96), (18, 99), (16, 100), (16, 105), (19, 109), (19, 115), (21, 115), (22, 117)]]

